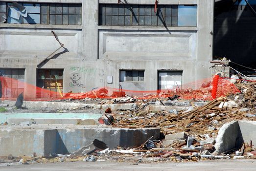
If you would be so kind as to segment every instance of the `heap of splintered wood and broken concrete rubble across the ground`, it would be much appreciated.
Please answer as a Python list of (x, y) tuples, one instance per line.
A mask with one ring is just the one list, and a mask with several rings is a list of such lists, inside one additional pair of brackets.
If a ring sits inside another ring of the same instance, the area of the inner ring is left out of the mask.
[[(38, 156), (33, 153), (31, 156), (20, 157), (10, 154), (1, 156), (0, 163), (29, 164), (116, 160), (131, 161), (138, 164), (140, 162), (199, 161), (207, 159), (256, 159), (253, 137), (249, 141), (241, 141), (240, 144), (238, 143), (235, 147), (226, 151), (220, 151), (220, 147), (216, 146), (216, 144), (228, 142), (225, 142), (225, 140), (219, 142), (220, 138), (218, 137), (220, 134), (225, 134), (220, 132), (223, 129), (222, 127), (227, 127), (228, 123), (256, 121), (256, 83), (242, 80), (233, 82), (235, 82), (236, 89), (225, 82), (218, 91), (221, 94), (222, 90), (229, 88), (234, 89), (233, 93), (218, 96), (218, 98), (211, 101), (185, 100), (187, 94), (190, 94), (190, 97), (191, 95), (196, 97), (201, 93), (201, 97), (209, 98), (203, 95), (205, 92), (209, 92), (209, 85), (205, 85), (204, 89), (200, 90), (187, 89), (163, 93), (161, 97), (160, 95), (146, 95), (147, 98), (144, 99), (126, 96), (96, 101), (93, 100), (93, 97), (88, 97), (88, 94), (72, 96), (70, 93), (68, 98), (61, 100), (62, 103), (81, 104), (90, 101), (97, 105), (136, 104), (135, 107), (127, 110), (111, 107), (101, 109), (103, 114), (98, 119), (99, 125), (128, 129), (160, 128), (161, 134), (157, 139), (154, 136), (150, 137), (137, 147), (110, 149), (105, 142), (94, 139), (90, 144), (90, 146), (93, 146), (93, 150), (90, 148), (89, 150), (86, 146), (69, 154), (50, 153), (46, 156)], [(92, 95), (95, 96), (95, 93), (90, 94), (90, 96)], [(170, 106), (171, 108), (168, 108)], [(73, 110), (76, 109), (79, 110), (78, 107)], [(8, 127), (10, 124), (6, 123), (5, 125)], [(233, 141), (236, 141), (236, 139)]]

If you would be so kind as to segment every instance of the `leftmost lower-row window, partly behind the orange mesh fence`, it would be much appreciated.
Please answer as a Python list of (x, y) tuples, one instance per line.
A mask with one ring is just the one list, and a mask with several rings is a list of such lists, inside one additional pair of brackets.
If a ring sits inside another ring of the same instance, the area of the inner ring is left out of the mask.
[(24, 92), (25, 69), (0, 68), (0, 76), (3, 76), (7, 86), (3, 89), (6, 97), (16, 98)]

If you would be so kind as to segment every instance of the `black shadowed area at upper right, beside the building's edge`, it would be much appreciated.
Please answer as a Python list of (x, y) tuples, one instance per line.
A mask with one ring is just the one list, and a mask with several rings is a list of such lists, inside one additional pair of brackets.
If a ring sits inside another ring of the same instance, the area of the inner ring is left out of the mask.
[[(256, 0), (248, 0), (256, 11)], [(256, 67), (256, 14), (244, 0), (215, 3), (214, 57)]]

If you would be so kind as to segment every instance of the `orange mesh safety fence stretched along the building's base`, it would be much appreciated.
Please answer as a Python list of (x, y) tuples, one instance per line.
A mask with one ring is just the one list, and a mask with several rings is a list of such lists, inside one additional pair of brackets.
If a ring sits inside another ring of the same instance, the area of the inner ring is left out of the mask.
[[(0, 77), (1, 100), (16, 100), (23, 93), (27, 101), (48, 101), (57, 99), (84, 99), (84, 98), (117, 98), (125, 95), (138, 99), (167, 98), (174, 95), (186, 100), (212, 100), (212, 78), (198, 80), (183, 85), (169, 86), (169, 89), (152, 91), (135, 91), (122, 88), (100, 87), (85, 93), (63, 93), (61, 89), (45, 89), (30, 85), (17, 79)], [(57, 84), (57, 83), (56, 83)], [(220, 78), (217, 83), (216, 97), (226, 96), (230, 93), (238, 93), (239, 89), (229, 82), (227, 78)], [(57, 87), (57, 85), (55, 86)]]

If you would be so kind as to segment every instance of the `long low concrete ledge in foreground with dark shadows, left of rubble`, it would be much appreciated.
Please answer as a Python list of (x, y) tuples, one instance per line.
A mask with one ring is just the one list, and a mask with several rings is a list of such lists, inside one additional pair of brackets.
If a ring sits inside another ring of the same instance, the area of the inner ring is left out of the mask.
[(90, 145), (94, 139), (110, 149), (140, 146), (148, 138), (160, 137), (160, 128), (112, 128), (99, 126), (0, 126), (0, 154), (13, 156), (71, 153)]

